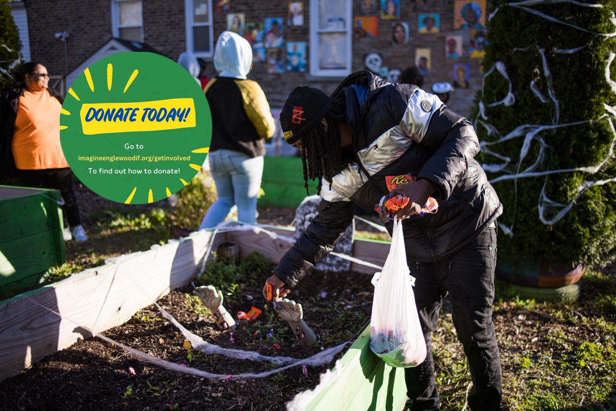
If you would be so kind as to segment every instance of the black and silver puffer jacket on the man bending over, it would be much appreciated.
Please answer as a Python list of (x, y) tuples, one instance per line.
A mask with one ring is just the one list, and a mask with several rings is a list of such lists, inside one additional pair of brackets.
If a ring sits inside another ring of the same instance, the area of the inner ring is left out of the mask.
[[(403, 221), (407, 259), (431, 262), (463, 248), (502, 213), (484, 170), (474, 160), (472, 124), (410, 84), (390, 84), (368, 71), (348, 76), (333, 96), (346, 96), (355, 163), (323, 181), (318, 216), (280, 260), (275, 274), (293, 288), (329, 253), (351, 223), (355, 205), (373, 208), (389, 192), (387, 176), (411, 174), (434, 185), (434, 214)], [(369, 177), (368, 177), (369, 176)], [(386, 224), (392, 232), (392, 222)], [(361, 256), (355, 256), (361, 258)]]

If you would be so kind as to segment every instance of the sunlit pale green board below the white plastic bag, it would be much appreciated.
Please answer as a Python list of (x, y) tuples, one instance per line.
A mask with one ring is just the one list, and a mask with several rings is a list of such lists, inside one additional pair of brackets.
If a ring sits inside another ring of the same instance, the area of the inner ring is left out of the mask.
[(342, 367), (342, 375), (310, 401), (306, 410), (404, 409), (407, 402), (404, 368), (390, 367), (370, 351), (370, 326), (342, 356), (337, 367)]

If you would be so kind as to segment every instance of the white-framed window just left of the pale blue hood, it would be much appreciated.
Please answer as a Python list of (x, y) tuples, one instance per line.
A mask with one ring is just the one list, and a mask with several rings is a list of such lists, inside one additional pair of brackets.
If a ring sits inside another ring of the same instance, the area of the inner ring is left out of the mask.
[(186, 49), (197, 57), (212, 57), (212, 1), (185, 0)]

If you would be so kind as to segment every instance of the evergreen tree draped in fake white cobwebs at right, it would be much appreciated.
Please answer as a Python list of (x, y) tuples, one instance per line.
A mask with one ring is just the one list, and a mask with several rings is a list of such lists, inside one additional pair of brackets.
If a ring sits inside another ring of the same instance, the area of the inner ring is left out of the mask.
[[(529, 3), (493, 0), (484, 70), (494, 70), (472, 115), (483, 141), (478, 159), (504, 205), (501, 228), (513, 234), (500, 231), (499, 258), (606, 264), (616, 256), (616, 39), (601, 33), (616, 31), (616, 1)], [(500, 140), (524, 124), (520, 136)], [(525, 171), (559, 172), (511, 179)]]

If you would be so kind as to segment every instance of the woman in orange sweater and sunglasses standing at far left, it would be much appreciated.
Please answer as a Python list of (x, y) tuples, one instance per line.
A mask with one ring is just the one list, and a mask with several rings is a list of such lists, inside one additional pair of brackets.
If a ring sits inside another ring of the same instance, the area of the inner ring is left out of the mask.
[(3, 160), (14, 165), (12, 174), (20, 184), (60, 190), (72, 237), (86, 241), (71, 169), (60, 145), (62, 97), (48, 88), (44, 65), (25, 63), (22, 71), (22, 85), (2, 97)]

